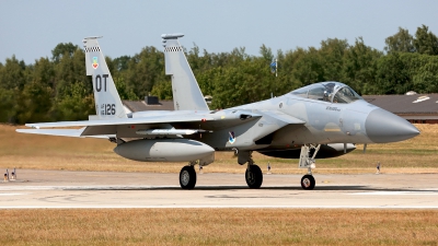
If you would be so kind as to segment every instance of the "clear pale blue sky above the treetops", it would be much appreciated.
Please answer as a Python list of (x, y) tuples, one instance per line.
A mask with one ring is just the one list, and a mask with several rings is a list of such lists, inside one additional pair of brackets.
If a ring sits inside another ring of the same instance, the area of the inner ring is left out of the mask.
[(422, 24), (438, 35), (438, 1), (0, 1), (0, 62), (15, 57), (26, 63), (51, 57), (59, 43), (100, 40), (106, 56), (132, 56), (145, 46), (161, 46), (161, 34), (183, 33), (209, 52), (245, 47), (258, 55), (265, 44), (274, 52), (319, 47), (326, 38), (345, 38), (383, 50), (384, 38), (399, 26), (411, 34)]

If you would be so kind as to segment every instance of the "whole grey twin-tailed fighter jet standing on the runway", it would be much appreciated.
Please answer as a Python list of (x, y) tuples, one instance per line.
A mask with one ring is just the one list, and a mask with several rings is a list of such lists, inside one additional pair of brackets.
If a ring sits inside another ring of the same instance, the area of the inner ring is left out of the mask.
[[(403, 141), (419, 133), (413, 125), (364, 101), (349, 86), (335, 82), (311, 84), (283, 96), (223, 110), (211, 110), (199, 90), (178, 38), (163, 34), (165, 73), (172, 78), (175, 110), (126, 114), (114, 85), (99, 37), (83, 39), (87, 74), (92, 75), (96, 115), (89, 120), (26, 124), (18, 132), (79, 138), (103, 138), (114, 152), (141, 162), (188, 162), (180, 185), (196, 185), (194, 166), (215, 161), (215, 151), (234, 151), (247, 164), (246, 184), (260, 188), (261, 168), (252, 159), (262, 154), (299, 159), (308, 174), (303, 189), (313, 189), (316, 157), (333, 157), (355, 149), (353, 143)], [(83, 127), (81, 129), (45, 129)]]

